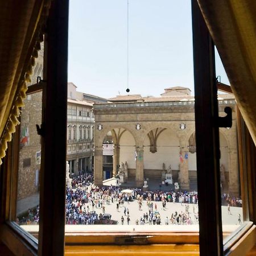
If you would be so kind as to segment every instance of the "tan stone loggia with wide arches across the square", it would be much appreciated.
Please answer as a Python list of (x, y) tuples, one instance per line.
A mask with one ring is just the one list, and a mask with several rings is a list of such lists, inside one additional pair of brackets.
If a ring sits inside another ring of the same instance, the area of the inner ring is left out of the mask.
[[(188, 88), (167, 88), (161, 97), (140, 95), (110, 98), (94, 104), (94, 181), (102, 184), (102, 143), (111, 132), (114, 144), (113, 173), (127, 162), (129, 179), (142, 187), (144, 179), (159, 179), (171, 166), (181, 189), (196, 188), (195, 100)], [(220, 115), (230, 106), (231, 129), (220, 129), (221, 182), (223, 191), (240, 193), (237, 163), (236, 104), (232, 94), (219, 94)], [(205, 170), (207, 171), (207, 170)]]

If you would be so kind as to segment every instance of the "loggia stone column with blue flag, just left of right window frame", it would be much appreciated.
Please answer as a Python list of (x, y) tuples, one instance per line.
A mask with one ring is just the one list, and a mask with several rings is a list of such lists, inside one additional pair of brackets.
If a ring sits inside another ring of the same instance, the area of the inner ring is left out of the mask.
[(189, 175), (188, 175), (188, 148), (180, 148), (180, 188), (189, 190)]

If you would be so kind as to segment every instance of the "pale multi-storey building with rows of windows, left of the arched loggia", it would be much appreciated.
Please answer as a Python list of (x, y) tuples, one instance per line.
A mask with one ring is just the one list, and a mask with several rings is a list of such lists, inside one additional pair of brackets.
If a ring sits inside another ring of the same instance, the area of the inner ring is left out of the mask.
[(76, 91), (76, 85), (68, 83), (68, 129), (67, 161), (70, 171), (91, 172), (93, 168), (94, 102), (107, 102), (106, 99)]

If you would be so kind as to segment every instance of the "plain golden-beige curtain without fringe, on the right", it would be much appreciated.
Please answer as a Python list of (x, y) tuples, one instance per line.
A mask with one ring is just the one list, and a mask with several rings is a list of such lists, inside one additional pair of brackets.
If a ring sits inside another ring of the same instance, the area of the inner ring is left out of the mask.
[(256, 1), (198, 2), (256, 145)]

